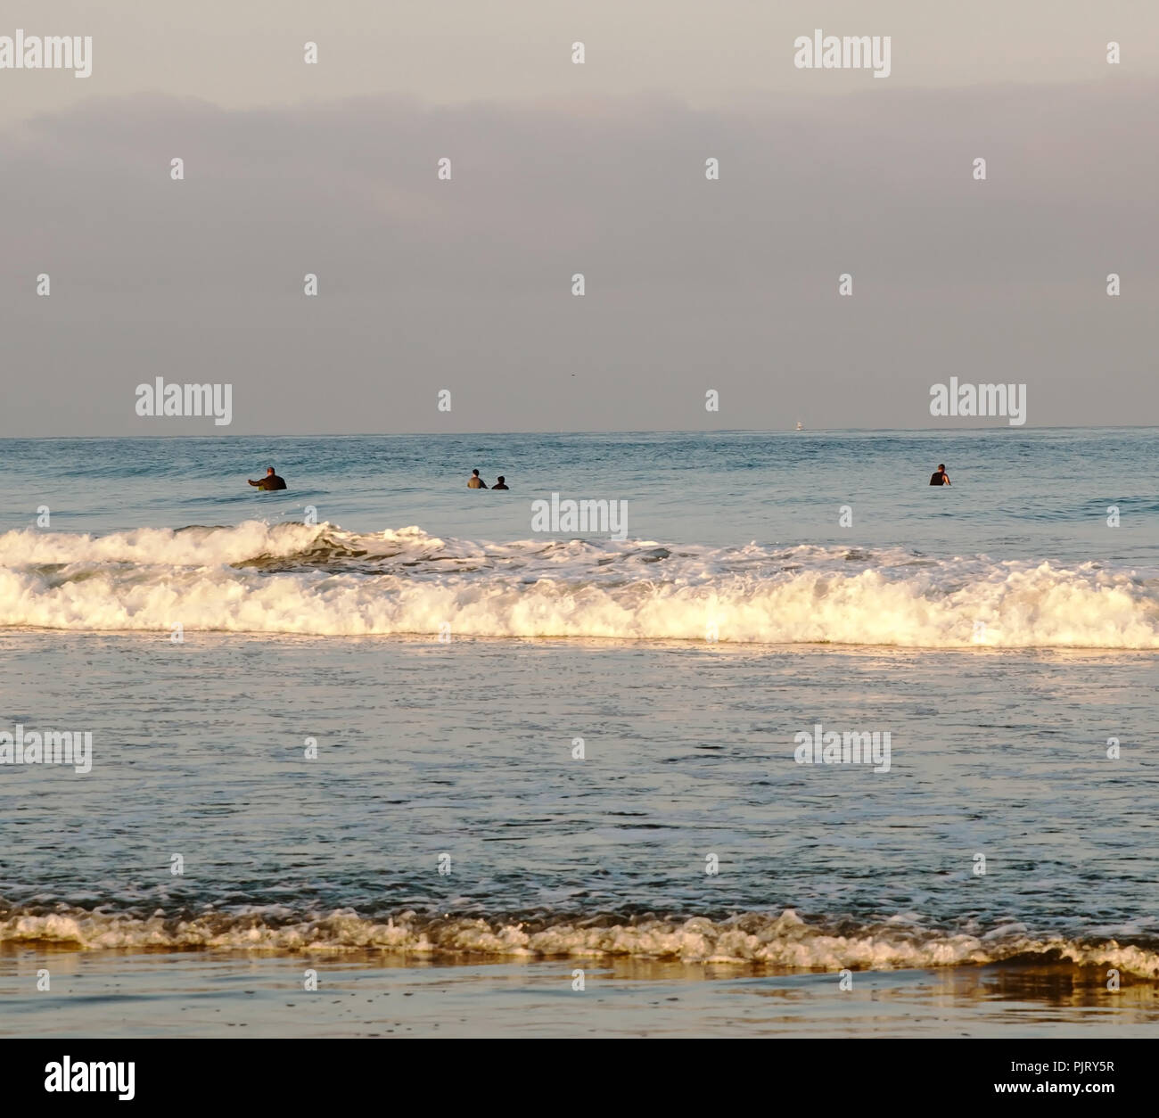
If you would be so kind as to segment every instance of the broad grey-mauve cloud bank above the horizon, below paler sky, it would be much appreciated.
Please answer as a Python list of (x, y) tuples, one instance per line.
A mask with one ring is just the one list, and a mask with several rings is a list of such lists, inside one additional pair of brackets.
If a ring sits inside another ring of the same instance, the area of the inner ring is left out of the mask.
[(971, 368), (1036, 381), (1032, 425), (1153, 416), (1159, 82), (884, 85), (731, 110), (140, 95), (13, 125), (3, 433), (155, 430), (131, 407), (154, 375), (231, 379), (239, 432), (928, 425), (928, 386)]

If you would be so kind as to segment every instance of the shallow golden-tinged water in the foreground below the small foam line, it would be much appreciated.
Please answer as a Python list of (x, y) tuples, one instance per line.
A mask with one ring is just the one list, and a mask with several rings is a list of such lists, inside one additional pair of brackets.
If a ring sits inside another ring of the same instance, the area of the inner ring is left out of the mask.
[[(1111, 999), (1101, 972), (987, 966), (752, 974), (648, 959), (586, 964), (0, 950), (0, 1035), (127, 1037), (1154, 1036), (1152, 984)], [(32, 993), (37, 967), (52, 989)]]

